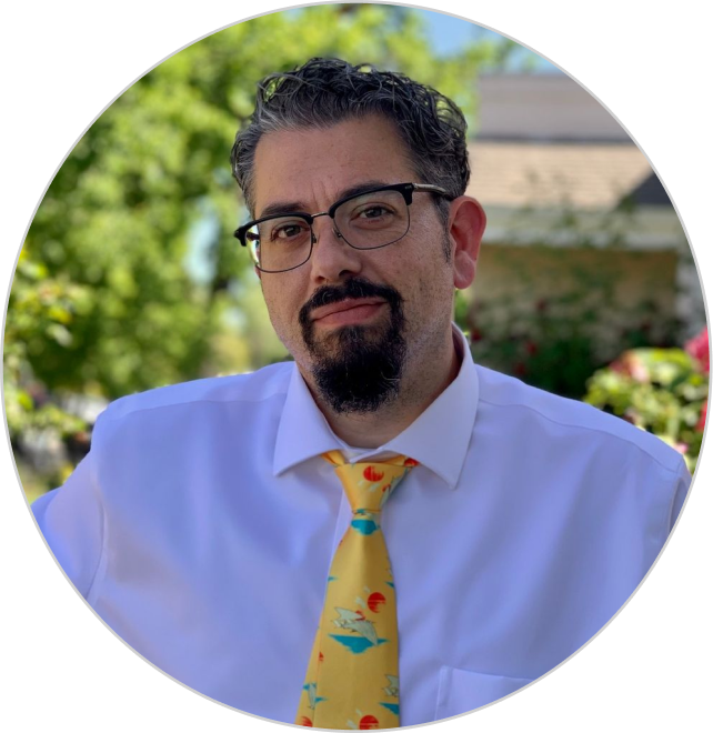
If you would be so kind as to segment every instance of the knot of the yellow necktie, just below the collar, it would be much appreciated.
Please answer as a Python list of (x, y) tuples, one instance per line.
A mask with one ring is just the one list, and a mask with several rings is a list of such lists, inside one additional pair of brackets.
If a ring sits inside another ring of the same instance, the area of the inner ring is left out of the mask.
[(340, 451), (324, 453), (334, 465), (353, 512), (375, 513), (418, 461), (398, 455), (386, 461), (345, 463)]

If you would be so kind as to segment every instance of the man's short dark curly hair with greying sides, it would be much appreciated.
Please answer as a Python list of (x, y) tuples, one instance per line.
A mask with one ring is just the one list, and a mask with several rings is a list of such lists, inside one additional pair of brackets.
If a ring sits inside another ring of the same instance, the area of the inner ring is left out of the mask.
[[(258, 83), (255, 110), (238, 132), (230, 155), (233, 175), (252, 214), (255, 149), (264, 133), (324, 129), (374, 113), (396, 125), (416, 182), (440, 185), (454, 199), (465, 193), (470, 179), (468, 124), (450, 99), (402, 73), (318, 58), (294, 71), (271, 73)], [(448, 202), (438, 197), (435, 203), (445, 220)]]

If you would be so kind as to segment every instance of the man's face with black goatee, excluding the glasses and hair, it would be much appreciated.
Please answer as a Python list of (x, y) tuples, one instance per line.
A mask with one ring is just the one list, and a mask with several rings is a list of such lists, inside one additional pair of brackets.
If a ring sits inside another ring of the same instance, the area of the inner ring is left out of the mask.
[[(414, 180), (405, 148), (383, 118), (272, 132), (255, 151), (254, 213), (275, 204), (318, 213), (356, 185)], [(450, 338), (453, 273), (431, 194), (414, 193), (410, 220), (400, 241), (355, 250), (320, 217), (307, 263), (261, 273), (275, 332), (337, 412), (371, 412), (394, 399), (404, 370), (418, 370)]]

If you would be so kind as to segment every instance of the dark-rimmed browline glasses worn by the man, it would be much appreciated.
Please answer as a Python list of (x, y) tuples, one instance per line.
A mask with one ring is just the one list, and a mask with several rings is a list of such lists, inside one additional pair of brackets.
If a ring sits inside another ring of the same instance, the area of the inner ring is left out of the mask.
[(426, 183), (396, 183), (369, 189), (340, 199), (320, 213), (277, 213), (250, 221), (234, 237), (248, 247), (262, 272), (287, 272), (304, 264), (317, 242), (312, 223), (330, 217), (334, 234), (355, 250), (378, 250), (403, 239), (409, 231), (409, 207), (414, 193), (452, 197)]

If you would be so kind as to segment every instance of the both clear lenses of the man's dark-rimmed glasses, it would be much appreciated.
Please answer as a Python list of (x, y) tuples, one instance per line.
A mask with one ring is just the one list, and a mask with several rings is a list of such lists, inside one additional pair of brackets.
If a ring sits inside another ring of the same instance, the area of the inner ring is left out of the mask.
[[(409, 231), (409, 207), (399, 191), (376, 191), (344, 201), (334, 224), (349, 244), (360, 250), (385, 247)], [(258, 265), (267, 271), (290, 270), (307, 262), (312, 229), (300, 217), (268, 219), (248, 230), (247, 241)]]

